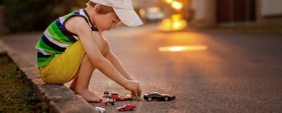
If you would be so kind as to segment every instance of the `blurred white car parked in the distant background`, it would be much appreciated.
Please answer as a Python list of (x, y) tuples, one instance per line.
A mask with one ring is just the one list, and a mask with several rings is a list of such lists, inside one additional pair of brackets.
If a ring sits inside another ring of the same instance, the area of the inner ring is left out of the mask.
[(146, 20), (149, 22), (156, 22), (165, 18), (165, 13), (158, 7), (147, 8)]

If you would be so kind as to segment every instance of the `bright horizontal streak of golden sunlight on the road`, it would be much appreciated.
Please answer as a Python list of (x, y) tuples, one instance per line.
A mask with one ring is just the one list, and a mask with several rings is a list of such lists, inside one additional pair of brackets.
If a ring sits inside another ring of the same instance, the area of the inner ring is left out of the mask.
[(159, 47), (159, 51), (196, 51), (196, 50), (206, 50), (207, 46), (169, 46), (169, 47)]

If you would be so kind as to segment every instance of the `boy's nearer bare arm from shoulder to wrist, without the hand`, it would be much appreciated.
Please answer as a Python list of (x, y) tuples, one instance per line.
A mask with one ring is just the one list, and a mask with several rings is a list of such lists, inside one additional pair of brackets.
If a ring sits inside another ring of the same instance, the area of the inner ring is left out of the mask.
[[(75, 22), (72, 22), (75, 20)], [(93, 39), (92, 30), (89, 24), (85, 21), (85, 19), (81, 17), (73, 17), (73, 19), (69, 19), (69, 22), (76, 24), (68, 24), (68, 30), (77, 34), (81, 40), (82, 46), (89, 57), (90, 61), (93, 65), (104, 73), (108, 78), (112, 79), (116, 83), (121, 86), (125, 86), (128, 83), (128, 80), (124, 78), (113, 66), (112, 64), (102, 56), (98, 46)], [(67, 21), (67, 22), (68, 22)]]

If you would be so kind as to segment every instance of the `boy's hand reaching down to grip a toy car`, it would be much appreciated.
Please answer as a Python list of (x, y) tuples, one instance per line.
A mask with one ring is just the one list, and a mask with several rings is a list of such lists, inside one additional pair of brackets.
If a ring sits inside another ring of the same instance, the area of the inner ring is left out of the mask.
[(139, 95), (142, 94), (142, 89), (137, 81), (128, 80), (124, 88), (131, 91), (131, 94), (135, 94), (136, 98), (138, 97), (138, 92)]

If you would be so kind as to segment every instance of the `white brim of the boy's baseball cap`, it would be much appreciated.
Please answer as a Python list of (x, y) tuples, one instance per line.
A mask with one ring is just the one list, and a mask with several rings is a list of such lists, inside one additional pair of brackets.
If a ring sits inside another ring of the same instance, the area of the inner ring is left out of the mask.
[(143, 22), (135, 13), (134, 10), (113, 8), (115, 13), (118, 15), (118, 18), (123, 22), (123, 24), (127, 26), (139, 26), (142, 25)]

